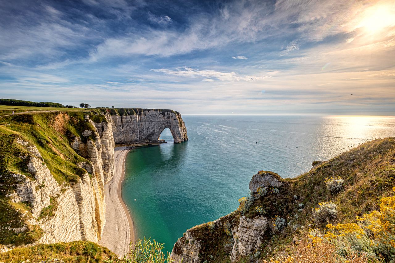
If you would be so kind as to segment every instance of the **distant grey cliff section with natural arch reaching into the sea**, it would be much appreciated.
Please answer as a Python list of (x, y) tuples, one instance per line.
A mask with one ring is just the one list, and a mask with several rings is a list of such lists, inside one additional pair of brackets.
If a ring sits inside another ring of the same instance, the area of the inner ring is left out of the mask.
[(170, 129), (175, 143), (188, 140), (184, 121), (176, 111), (134, 109), (133, 113), (111, 115), (115, 143), (157, 143), (166, 128)]

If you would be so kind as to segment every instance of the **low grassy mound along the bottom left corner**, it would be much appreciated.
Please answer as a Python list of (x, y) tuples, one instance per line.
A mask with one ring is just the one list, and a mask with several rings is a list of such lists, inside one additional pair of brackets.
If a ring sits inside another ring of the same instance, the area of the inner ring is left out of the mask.
[[(81, 262), (94, 263), (115, 255), (108, 249), (93, 242), (75, 241), (70, 243), (41, 244), (26, 248), (14, 248), (0, 254), (0, 262), (57, 262), (51, 259), (60, 259), (65, 263)], [(43, 260), (43, 261), (42, 261)]]

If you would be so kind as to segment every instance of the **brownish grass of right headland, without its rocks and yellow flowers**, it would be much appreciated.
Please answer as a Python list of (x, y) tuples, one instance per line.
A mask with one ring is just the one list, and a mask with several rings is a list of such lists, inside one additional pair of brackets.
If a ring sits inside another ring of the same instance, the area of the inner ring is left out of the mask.
[[(344, 190), (332, 194), (326, 187), (325, 178), (339, 175), (344, 179)], [(269, 190), (244, 213), (253, 218), (258, 216), (256, 207), (265, 209), (263, 215), (269, 219), (280, 216), (290, 223), (282, 231), (269, 227), (266, 242), (262, 244), (261, 255), (275, 254), (287, 250), (293, 238), (306, 235), (308, 227), (315, 225), (311, 210), (318, 207), (322, 201), (332, 201), (337, 204), (339, 215), (334, 222), (355, 222), (355, 216), (376, 210), (382, 197), (392, 195), (395, 178), (395, 138), (370, 141), (348, 152), (345, 152), (328, 162), (319, 165), (308, 173), (294, 179), (280, 179), (284, 184), (279, 193)], [(294, 195), (297, 196), (295, 199)], [(299, 211), (299, 203), (304, 209)], [(297, 216), (295, 216), (297, 215)], [(190, 229), (192, 235), (201, 242), (201, 257), (215, 262), (229, 262), (231, 237), (226, 234), (226, 225), (237, 225), (239, 212), (224, 216), (217, 227), (202, 224)], [(273, 225), (273, 222), (270, 224)], [(304, 228), (293, 230), (293, 225), (303, 225)], [(184, 238), (181, 238), (183, 241)], [(175, 250), (178, 248), (175, 247)], [(248, 262), (247, 258), (239, 262)]]

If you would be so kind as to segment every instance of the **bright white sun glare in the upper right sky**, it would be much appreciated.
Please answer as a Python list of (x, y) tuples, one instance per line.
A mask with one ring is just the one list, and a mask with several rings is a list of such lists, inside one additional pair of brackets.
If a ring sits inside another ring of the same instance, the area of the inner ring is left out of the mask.
[(395, 26), (395, 5), (372, 6), (365, 10), (360, 28), (369, 34), (374, 34), (385, 28)]

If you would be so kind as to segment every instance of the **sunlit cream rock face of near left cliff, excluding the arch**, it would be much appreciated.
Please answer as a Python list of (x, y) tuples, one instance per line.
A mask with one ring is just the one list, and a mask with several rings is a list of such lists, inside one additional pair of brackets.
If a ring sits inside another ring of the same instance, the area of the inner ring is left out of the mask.
[[(88, 240), (98, 242), (105, 224), (104, 183), (114, 174), (114, 140), (110, 116), (108, 123), (94, 124), (99, 130), (85, 130), (83, 135), (94, 136), (82, 143), (81, 138), (75, 137), (71, 146), (89, 163), (79, 165), (87, 170), (71, 184), (59, 184), (47, 168), (40, 152), (34, 145), (18, 140), (17, 142), (30, 153), (28, 171), (34, 175), (34, 180), (24, 175), (14, 175), (19, 184), (11, 194), (12, 202), (27, 201), (32, 205), (33, 218), (30, 224), (39, 225), (43, 236), (37, 243), (70, 242)], [(103, 138), (103, 141), (101, 140)], [(106, 179), (105, 179), (106, 178)], [(57, 204), (55, 215), (51, 218), (39, 218), (41, 210), (50, 205), (50, 199)]]

